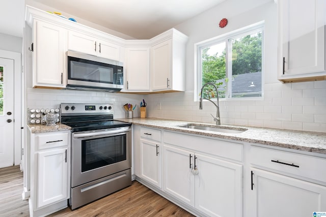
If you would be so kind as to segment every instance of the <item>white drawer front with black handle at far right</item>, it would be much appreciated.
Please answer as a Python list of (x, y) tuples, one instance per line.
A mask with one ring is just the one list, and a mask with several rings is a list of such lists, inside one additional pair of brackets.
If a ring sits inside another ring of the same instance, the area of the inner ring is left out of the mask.
[(249, 161), (252, 165), (326, 182), (323, 158), (252, 146)]

